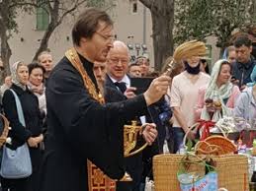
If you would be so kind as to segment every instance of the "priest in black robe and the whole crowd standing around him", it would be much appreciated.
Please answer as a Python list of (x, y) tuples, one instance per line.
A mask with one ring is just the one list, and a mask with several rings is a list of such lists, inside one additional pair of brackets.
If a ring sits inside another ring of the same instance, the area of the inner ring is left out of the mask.
[[(197, 120), (239, 116), (256, 123), (256, 61), (247, 36), (238, 36), (212, 70), (208, 58), (193, 55), (169, 77), (150, 71), (146, 56), (130, 63), (105, 12), (81, 14), (72, 38), (74, 47), (59, 62), (48, 51), (31, 64), (15, 62), (1, 86), (1, 112), (12, 127), (8, 147), (28, 143), (33, 164), (29, 177), (1, 177), (3, 191), (86, 191), (92, 186), (87, 159), (115, 180), (117, 191), (142, 191), (145, 177), (153, 178), (152, 157), (164, 152), (165, 141), (170, 153), (179, 152)], [(152, 82), (136, 95), (133, 78)], [(21, 101), (25, 127), (10, 89)], [(209, 106), (214, 99), (220, 107)], [(124, 125), (131, 120), (147, 124), (137, 143), (149, 146), (125, 158)], [(194, 130), (188, 137), (198, 136)]]

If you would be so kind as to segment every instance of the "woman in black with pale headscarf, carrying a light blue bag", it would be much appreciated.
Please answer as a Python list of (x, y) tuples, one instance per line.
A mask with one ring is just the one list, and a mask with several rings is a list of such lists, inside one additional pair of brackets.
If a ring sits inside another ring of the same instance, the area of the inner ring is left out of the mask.
[(1, 177), (3, 191), (34, 191), (38, 183), (38, 170), (42, 153), (39, 144), (43, 141), (42, 119), (39, 109), (39, 100), (27, 87), (29, 80), (29, 69), (24, 62), (16, 62), (11, 68), (12, 82), (11, 90), (19, 97), (24, 113), (24, 127), (18, 118), (15, 96), (11, 90), (7, 90), (3, 96), (4, 112), (10, 126), (9, 137), (12, 144), (7, 144), (10, 149), (16, 149), (25, 142), (28, 143), (33, 166), (33, 174), (27, 178), (6, 179)]

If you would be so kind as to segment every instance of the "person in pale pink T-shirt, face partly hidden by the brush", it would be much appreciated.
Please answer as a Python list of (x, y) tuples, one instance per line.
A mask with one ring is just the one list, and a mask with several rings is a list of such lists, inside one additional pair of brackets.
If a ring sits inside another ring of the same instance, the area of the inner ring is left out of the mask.
[[(199, 88), (208, 84), (210, 77), (200, 71), (200, 57), (195, 55), (184, 61), (185, 71), (175, 76), (171, 86), (171, 107), (173, 108), (174, 153), (183, 142), (185, 133), (195, 123), (194, 108), (197, 103)], [(196, 132), (190, 132), (194, 140)]]

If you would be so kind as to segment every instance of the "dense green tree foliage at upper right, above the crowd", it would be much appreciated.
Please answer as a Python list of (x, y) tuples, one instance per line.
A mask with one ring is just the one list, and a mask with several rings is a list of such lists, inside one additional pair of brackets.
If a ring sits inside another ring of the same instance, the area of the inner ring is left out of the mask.
[(175, 5), (174, 40), (207, 36), (217, 37), (216, 46), (224, 47), (234, 29), (252, 22), (253, 0), (179, 0)]

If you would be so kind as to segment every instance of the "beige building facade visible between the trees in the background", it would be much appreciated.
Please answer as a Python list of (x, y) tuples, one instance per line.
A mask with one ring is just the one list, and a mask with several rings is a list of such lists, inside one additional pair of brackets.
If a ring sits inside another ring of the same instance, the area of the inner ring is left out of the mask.
[[(115, 22), (117, 39), (128, 44), (132, 57), (142, 54), (148, 56), (153, 68), (150, 11), (138, 0), (116, 0), (115, 4), (109, 14)], [(48, 48), (52, 53), (54, 63), (57, 63), (64, 55), (65, 50), (72, 46), (71, 29), (81, 11), (83, 11), (83, 7), (80, 7), (74, 14), (68, 15), (50, 36)], [(9, 40), (12, 49), (10, 64), (18, 60), (31, 63), (48, 24), (47, 15), (43, 13), (43, 9), (39, 9), (31, 15), (23, 13), (17, 18), (17, 23), (19, 32), (14, 33)], [(210, 42), (213, 44), (214, 39), (210, 38)], [(218, 52), (218, 50), (212, 46), (212, 62), (218, 58), (218, 54), (214, 52)]]

